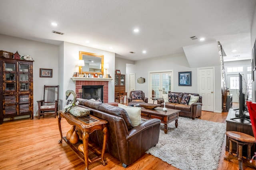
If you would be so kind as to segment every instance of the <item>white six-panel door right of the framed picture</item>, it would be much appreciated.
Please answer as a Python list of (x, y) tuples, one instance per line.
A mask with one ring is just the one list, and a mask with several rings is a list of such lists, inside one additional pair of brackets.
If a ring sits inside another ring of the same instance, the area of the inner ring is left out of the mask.
[(202, 110), (214, 111), (213, 68), (199, 69), (199, 94), (202, 96)]

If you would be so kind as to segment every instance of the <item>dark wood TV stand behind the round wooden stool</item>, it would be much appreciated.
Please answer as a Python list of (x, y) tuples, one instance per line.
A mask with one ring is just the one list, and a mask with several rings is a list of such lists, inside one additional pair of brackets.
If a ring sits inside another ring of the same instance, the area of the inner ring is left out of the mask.
[[(226, 118), (226, 131), (237, 131), (237, 132), (242, 132), (242, 133), (246, 133), (248, 135), (251, 135), (254, 137), (253, 131), (252, 131), (252, 124), (246, 120), (242, 120), (242, 119), (234, 119), (231, 120), (232, 118), (236, 117), (235, 116), (236, 111), (234, 111), (233, 109), (229, 109), (228, 111), (228, 116)], [(229, 150), (229, 140), (226, 139), (226, 150)], [(233, 151), (237, 150), (237, 146), (236, 143), (233, 143), (233, 147), (232, 147)], [(254, 154), (254, 150), (255, 150), (255, 145), (252, 146), (252, 152), (251, 155)], [(247, 149), (243, 149), (243, 155), (247, 155), (246, 154)]]

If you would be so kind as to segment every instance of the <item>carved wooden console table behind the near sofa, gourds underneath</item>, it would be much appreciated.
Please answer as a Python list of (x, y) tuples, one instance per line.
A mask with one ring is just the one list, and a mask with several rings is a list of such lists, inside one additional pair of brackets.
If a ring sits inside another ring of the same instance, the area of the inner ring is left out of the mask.
[[(76, 128), (82, 131), (82, 142), (81, 140), (79, 140), (77, 144), (72, 144), (70, 143), (70, 141), (66, 139), (66, 137), (62, 137), (62, 130), (61, 130), (61, 124), (60, 124), (62, 117), (64, 117), (70, 125), (75, 125)], [(63, 139), (68, 144), (68, 146), (78, 155), (78, 157), (84, 161), (85, 170), (88, 170), (89, 162), (94, 162), (100, 159), (102, 160), (102, 165), (105, 166), (107, 164), (107, 161), (104, 160), (104, 153), (106, 150), (107, 134), (108, 134), (108, 129), (106, 127), (107, 123), (108, 121), (98, 119), (93, 115), (77, 118), (70, 113), (66, 113), (63, 110), (60, 110), (58, 111), (58, 126), (60, 131), (60, 140), (58, 141), (58, 143), (62, 143), (62, 139)], [(92, 133), (95, 130), (100, 130), (100, 131), (103, 131), (104, 133), (102, 152), (101, 152), (101, 156), (97, 155), (97, 156), (94, 156), (92, 159), (90, 159), (88, 158), (88, 153), (90, 152), (90, 150), (88, 149), (88, 139), (89, 139), (90, 133)], [(84, 145), (84, 154), (83, 152), (80, 152), (78, 150), (79, 144)]]

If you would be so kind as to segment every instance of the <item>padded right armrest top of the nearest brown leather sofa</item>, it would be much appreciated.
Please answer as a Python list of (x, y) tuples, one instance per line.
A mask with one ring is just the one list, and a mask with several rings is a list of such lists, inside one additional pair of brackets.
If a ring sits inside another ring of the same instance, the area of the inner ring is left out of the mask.
[(130, 132), (127, 136), (127, 139), (129, 140), (129, 139), (133, 138), (135, 135), (144, 131), (145, 129), (147, 129), (150, 126), (157, 125), (157, 126), (159, 126), (159, 129), (160, 129), (160, 123), (161, 123), (160, 119), (149, 119), (147, 121), (144, 121), (143, 123), (140, 123), (140, 125), (138, 125), (130, 130)]

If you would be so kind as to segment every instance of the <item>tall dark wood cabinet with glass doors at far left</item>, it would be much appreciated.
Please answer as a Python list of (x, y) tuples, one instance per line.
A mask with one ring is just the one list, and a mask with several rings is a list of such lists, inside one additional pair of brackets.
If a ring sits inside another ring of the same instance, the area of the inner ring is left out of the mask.
[(33, 119), (33, 61), (0, 58), (0, 124), (4, 118)]

